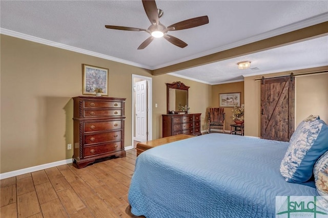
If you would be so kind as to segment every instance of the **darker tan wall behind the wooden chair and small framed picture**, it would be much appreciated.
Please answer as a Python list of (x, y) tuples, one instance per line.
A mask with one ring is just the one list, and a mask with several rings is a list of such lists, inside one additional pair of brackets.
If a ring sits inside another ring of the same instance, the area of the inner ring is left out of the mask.
[[(225, 84), (212, 85), (212, 103), (211, 107), (219, 107), (219, 94), (220, 93), (235, 93), (240, 92), (241, 104), (244, 103), (244, 82), (232, 82)], [(224, 107), (224, 113), (226, 113), (226, 121), (224, 127), (226, 130), (230, 130), (230, 124), (233, 124), (232, 108)]]

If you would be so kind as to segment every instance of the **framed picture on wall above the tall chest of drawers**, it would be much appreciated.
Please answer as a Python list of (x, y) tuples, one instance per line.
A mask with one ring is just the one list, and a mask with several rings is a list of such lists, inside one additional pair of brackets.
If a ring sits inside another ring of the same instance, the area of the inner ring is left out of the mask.
[(108, 69), (83, 64), (83, 94), (108, 96)]

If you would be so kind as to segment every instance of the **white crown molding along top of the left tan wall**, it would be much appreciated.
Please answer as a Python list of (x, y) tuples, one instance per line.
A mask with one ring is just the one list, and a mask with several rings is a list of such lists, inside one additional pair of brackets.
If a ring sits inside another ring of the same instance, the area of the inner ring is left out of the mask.
[(97, 53), (97, 52), (92, 52), (92, 51), (85, 50), (85, 49), (76, 48), (76, 47), (73, 47), (73, 46), (68, 46), (68, 45), (58, 43), (58, 42), (55, 42), (55, 41), (50, 41), (50, 40), (47, 40), (47, 39), (38, 38), (38, 37), (35, 37), (35, 36), (15, 32), (15, 31), (12, 31), (12, 30), (7, 30), (7, 29), (4, 29), (4, 28), (0, 28), (0, 33), (4, 34), (4, 35), (8, 35), (8, 36), (13, 36), (13, 37), (16, 37), (16, 38), (25, 39), (25, 40), (28, 40), (28, 41), (41, 43), (43, 45), (56, 47), (56, 48), (59, 48), (59, 49), (65, 49), (65, 50), (69, 50), (69, 51), (72, 51), (72, 52), (77, 52), (77, 53), (86, 54), (86, 55), (90, 55), (90, 56), (94, 56), (94, 57), (104, 58), (106, 60), (112, 60), (112, 61), (116, 61), (116, 62), (119, 62), (119, 63), (125, 63), (125, 64), (131, 65), (131, 66), (134, 66), (134, 67), (138, 67), (138, 68), (145, 68), (145, 69), (148, 69), (148, 70), (152, 70), (151, 67), (146, 66), (144, 64), (135, 63), (135, 62), (132, 62), (132, 61), (112, 57), (112, 56), (109, 56), (109, 55), (100, 54), (100, 53)]

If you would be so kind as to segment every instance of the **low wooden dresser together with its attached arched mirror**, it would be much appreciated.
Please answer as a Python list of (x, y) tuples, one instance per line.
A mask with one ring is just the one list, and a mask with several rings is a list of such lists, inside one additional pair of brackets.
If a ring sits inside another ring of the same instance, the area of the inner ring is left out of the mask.
[[(179, 134), (201, 135), (201, 114), (188, 113), (188, 89), (190, 87), (182, 82), (166, 83), (166, 86), (168, 114), (162, 115), (162, 137)], [(181, 108), (185, 110), (181, 111)]]

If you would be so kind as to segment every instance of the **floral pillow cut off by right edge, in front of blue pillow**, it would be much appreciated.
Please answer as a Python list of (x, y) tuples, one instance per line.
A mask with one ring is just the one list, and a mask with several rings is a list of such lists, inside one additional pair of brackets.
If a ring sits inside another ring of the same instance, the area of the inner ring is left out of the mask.
[(328, 195), (328, 151), (316, 162), (313, 169), (318, 194)]

